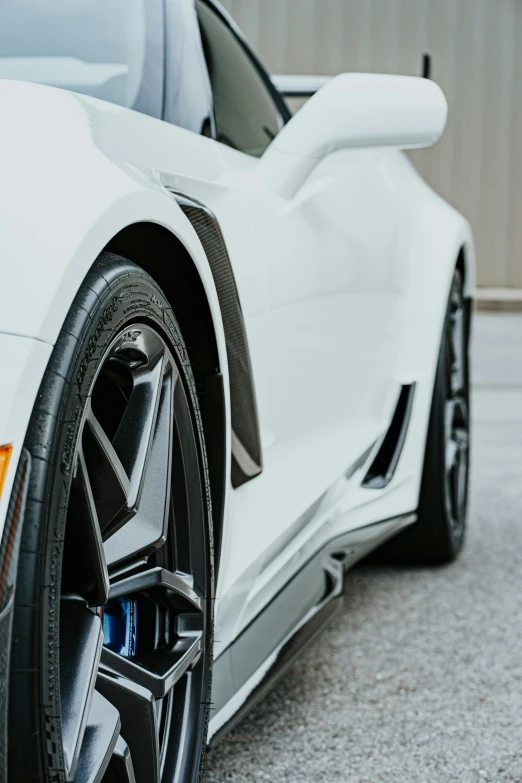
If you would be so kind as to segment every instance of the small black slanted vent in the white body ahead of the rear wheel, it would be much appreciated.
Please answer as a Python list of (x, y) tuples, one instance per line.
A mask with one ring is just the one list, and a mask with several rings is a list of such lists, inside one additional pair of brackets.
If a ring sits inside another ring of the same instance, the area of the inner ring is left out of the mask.
[(402, 387), (391, 424), (382, 440), (379, 451), (364, 477), (363, 487), (382, 489), (392, 480), (401, 456), (404, 441), (406, 440), (414, 393), (414, 383)]

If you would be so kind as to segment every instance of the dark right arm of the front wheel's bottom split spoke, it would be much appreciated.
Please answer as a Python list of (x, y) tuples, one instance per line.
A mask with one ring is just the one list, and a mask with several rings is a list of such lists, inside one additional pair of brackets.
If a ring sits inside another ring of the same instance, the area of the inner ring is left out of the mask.
[(130, 680), (100, 672), (96, 689), (121, 718), (121, 733), (130, 749), (136, 783), (158, 783), (159, 743), (154, 696)]

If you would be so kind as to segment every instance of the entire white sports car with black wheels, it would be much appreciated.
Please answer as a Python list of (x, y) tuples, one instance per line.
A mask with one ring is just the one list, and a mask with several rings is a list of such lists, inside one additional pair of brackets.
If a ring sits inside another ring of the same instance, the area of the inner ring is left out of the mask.
[(446, 101), (291, 118), (214, 0), (4, 0), (0, 79), (0, 779), (195, 783), (346, 568), (462, 546)]

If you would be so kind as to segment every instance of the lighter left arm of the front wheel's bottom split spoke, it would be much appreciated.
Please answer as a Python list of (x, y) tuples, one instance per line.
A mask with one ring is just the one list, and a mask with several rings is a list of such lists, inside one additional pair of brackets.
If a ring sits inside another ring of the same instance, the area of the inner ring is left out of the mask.
[(100, 783), (111, 760), (120, 732), (120, 716), (98, 691), (94, 691), (74, 783)]

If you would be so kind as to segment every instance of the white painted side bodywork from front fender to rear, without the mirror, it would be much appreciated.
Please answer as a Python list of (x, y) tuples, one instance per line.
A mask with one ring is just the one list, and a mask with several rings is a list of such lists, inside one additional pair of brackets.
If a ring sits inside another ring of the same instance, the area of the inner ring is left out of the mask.
[[(468, 295), (475, 284), (469, 226), (396, 150), (335, 152), (288, 199), (262, 176), (263, 159), (160, 120), (16, 82), (0, 82), (0, 102), (0, 347), (10, 379), (0, 392), (0, 443), (15, 446), (0, 528), (52, 346), (89, 267), (126, 226), (157, 223), (190, 253), (213, 317), (230, 421), (211, 270), (164, 185), (199, 199), (221, 225), (253, 365), (263, 472), (228, 488), (219, 655), (332, 537), (416, 508), (447, 293), (463, 247)], [(383, 490), (363, 489), (363, 467), (350, 478), (346, 471), (382, 436), (401, 384), (411, 382), (396, 474)]]

